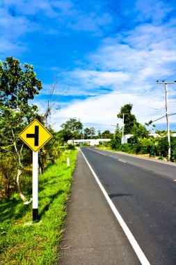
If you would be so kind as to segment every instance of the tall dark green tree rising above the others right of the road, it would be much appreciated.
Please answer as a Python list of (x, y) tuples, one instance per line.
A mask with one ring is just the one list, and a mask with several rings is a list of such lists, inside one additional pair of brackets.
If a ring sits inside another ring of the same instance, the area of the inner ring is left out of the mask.
[(134, 124), (138, 124), (136, 116), (131, 114), (132, 104), (126, 104), (120, 108), (120, 113), (117, 115), (118, 118), (124, 119), (124, 135), (132, 133)]

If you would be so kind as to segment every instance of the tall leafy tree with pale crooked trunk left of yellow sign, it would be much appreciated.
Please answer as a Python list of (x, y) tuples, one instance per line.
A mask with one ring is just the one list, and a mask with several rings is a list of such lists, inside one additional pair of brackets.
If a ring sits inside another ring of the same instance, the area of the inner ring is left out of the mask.
[(19, 139), (19, 133), (33, 120), (40, 119), (38, 107), (29, 105), (42, 89), (42, 82), (33, 72), (33, 66), (8, 57), (0, 62), (0, 135), (1, 153), (15, 155), (17, 159), (17, 187), (23, 201), (26, 200), (19, 184), (24, 166), (28, 161), (29, 149)]

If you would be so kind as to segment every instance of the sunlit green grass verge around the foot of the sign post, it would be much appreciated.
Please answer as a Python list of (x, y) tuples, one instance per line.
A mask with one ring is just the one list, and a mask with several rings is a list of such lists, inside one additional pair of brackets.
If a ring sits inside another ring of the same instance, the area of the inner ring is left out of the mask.
[[(57, 264), (77, 151), (67, 151), (39, 179), (40, 222), (19, 199), (0, 205), (0, 264)], [(70, 167), (67, 167), (70, 158)]]

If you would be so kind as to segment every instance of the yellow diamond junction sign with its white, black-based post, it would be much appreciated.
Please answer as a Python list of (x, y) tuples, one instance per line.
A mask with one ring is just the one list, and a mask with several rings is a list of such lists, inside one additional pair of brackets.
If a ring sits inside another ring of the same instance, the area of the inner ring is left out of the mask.
[(51, 133), (36, 119), (19, 134), (19, 138), (33, 151), (33, 222), (38, 222), (38, 150), (51, 137)]

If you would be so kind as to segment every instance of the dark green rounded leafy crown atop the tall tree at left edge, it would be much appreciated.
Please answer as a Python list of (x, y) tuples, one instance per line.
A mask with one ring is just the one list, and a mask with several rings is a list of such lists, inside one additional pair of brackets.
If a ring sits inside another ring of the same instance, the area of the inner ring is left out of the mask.
[(8, 57), (0, 63), (0, 105), (24, 112), (28, 100), (33, 99), (42, 89), (41, 81), (33, 72), (33, 66), (24, 63), (22, 69), (19, 60)]

